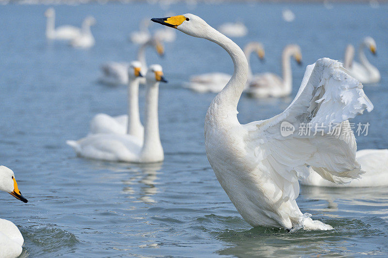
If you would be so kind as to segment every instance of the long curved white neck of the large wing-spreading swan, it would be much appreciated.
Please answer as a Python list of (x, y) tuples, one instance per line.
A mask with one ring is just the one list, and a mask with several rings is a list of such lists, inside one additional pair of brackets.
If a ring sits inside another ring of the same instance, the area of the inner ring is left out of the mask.
[(248, 61), (241, 48), (222, 33), (210, 27), (204, 38), (222, 46), (232, 58), (234, 72), (224, 89), (213, 99), (207, 112), (207, 118), (213, 120), (225, 117), (237, 121), (237, 105), (245, 87), (248, 75)]

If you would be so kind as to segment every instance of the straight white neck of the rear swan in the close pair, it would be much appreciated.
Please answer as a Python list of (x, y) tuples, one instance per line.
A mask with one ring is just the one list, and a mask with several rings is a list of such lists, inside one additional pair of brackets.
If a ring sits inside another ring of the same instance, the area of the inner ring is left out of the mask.
[(143, 135), (139, 114), (139, 78), (129, 79), (128, 84), (128, 126), (127, 134), (135, 137)]

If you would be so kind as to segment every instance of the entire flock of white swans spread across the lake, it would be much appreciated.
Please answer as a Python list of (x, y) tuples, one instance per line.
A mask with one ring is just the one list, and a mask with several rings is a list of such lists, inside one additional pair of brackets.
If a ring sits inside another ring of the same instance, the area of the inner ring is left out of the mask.
[[(52, 8), (47, 10), (46, 16), (47, 38), (69, 40), (77, 47), (93, 46), (90, 26), (95, 22), (94, 18), (87, 17), (79, 29), (70, 26), (55, 28)], [(160, 82), (167, 81), (161, 65), (146, 65), (145, 49), (152, 47), (162, 55), (163, 42), (174, 40), (173, 29), (177, 29), (214, 42), (224, 48), (233, 61), (233, 75), (193, 76), (185, 87), (218, 93), (205, 117), (206, 153), (216, 178), (251, 226), (287, 230), (333, 229), (300, 211), (296, 203), (299, 181), (306, 185), (342, 187), (388, 184), (388, 150), (356, 152), (356, 138), (349, 130), (348, 121), (364, 110), (370, 112), (373, 109), (361, 84), (375, 83), (380, 79), (378, 70), (367, 61), (363, 52), (368, 47), (375, 53), (376, 44), (372, 38), (365, 38), (360, 46), (360, 63), (354, 61), (353, 46), (346, 49), (344, 65), (328, 58), (318, 59), (307, 66), (298, 93), (282, 113), (267, 120), (240, 124), (237, 105), (243, 91), (256, 97), (291, 94), (291, 58), (300, 63), (300, 47), (288, 45), (284, 48), (282, 77), (272, 73), (253, 75), (249, 65), (251, 54), (256, 53), (259, 59), (265, 55), (260, 43), (249, 43), (242, 51), (231, 39), (193, 14), (151, 20), (172, 28), (158, 30), (152, 35), (148, 25), (142, 23), (140, 31), (130, 35), (131, 40), (140, 45), (137, 61), (108, 62), (101, 68), (101, 82), (128, 85), (128, 114), (117, 117), (97, 114), (86, 137), (66, 142), (77, 155), (113, 162), (163, 161), (158, 94)], [(141, 84), (146, 85), (144, 126), (139, 110)], [(280, 133), (284, 121), (295, 128), (301, 123), (340, 123), (341, 129), (339, 135), (324, 130), (322, 134), (284, 137)], [(4, 166), (0, 167), (0, 190), (27, 202), (18, 190), (14, 172)], [(0, 257), (17, 257), (22, 244), (23, 237), (17, 227), (1, 219)]]

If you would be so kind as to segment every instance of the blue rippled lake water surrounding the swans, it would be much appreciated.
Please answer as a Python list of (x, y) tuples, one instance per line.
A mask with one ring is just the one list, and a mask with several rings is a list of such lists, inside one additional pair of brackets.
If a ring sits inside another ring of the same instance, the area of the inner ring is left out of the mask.
[[(154, 165), (115, 164), (77, 158), (65, 140), (84, 137), (98, 112), (126, 110), (126, 88), (97, 84), (105, 61), (131, 61), (137, 46), (128, 34), (144, 16), (163, 17), (165, 8), (147, 4), (55, 6), (57, 25), (79, 25), (94, 15), (96, 46), (75, 50), (48, 43), (43, 16), (48, 6), (0, 7), (0, 157), (16, 173), (24, 204), (0, 194), (0, 217), (12, 220), (24, 238), (23, 257), (252, 257), (388, 255), (388, 188), (330, 189), (302, 187), (302, 212), (332, 225), (328, 232), (251, 228), (217, 182), (206, 158), (203, 121), (214, 94), (181, 88), (192, 74), (232, 72), (219, 46), (178, 33), (160, 59), (149, 50), (148, 63), (163, 66), (168, 84), (160, 90), (160, 130), (165, 161)], [(192, 7), (191, 7), (192, 8)], [(281, 11), (296, 19), (286, 23)], [(367, 53), (381, 72), (379, 85), (365, 91), (375, 105), (354, 121), (370, 122), (358, 148), (387, 148), (388, 15), (387, 5), (173, 4), (175, 14), (194, 13), (217, 27), (243, 21), (259, 40), (266, 61), (252, 58), (254, 72), (279, 73), (281, 49), (297, 43), (304, 64), (321, 57), (341, 59), (345, 45), (371, 35), (378, 56)], [(158, 28), (153, 26), (153, 28)], [(297, 92), (304, 67), (292, 64)], [(141, 101), (144, 89), (141, 90)], [(242, 97), (242, 123), (281, 112), (291, 98)]]

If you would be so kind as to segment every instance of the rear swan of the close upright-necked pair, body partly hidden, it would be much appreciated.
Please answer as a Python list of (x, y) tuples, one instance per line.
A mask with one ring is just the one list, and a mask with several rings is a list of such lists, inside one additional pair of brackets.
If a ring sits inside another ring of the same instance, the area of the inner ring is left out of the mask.
[[(144, 128), (139, 115), (139, 79), (142, 77), (141, 63), (132, 61), (129, 64), (128, 115), (111, 117), (97, 114), (90, 122), (91, 134), (129, 134), (143, 141)], [(129, 119), (128, 119), (129, 118)]]

